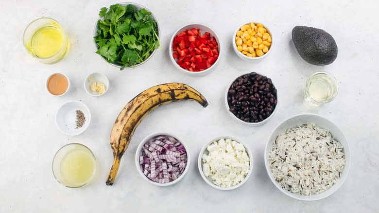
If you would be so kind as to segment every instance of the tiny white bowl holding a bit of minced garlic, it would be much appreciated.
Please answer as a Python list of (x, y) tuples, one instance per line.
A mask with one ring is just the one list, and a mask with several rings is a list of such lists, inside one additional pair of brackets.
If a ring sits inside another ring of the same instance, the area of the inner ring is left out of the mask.
[(89, 74), (86, 79), (84, 79), (84, 89), (87, 93), (92, 96), (103, 95), (108, 91), (109, 80), (108, 78), (99, 72), (94, 72)]

